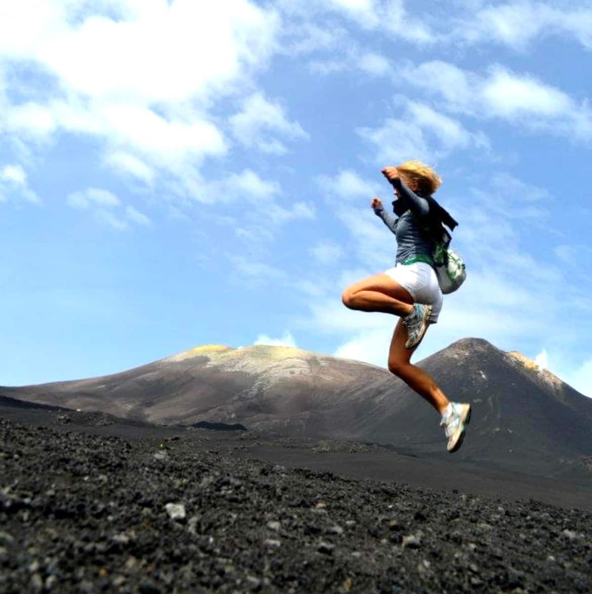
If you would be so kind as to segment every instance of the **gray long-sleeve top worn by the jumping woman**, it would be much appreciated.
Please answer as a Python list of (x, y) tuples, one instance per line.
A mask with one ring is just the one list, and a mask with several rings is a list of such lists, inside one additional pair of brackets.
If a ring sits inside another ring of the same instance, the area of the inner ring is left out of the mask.
[(432, 242), (426, 235), (423, 226), (427, 225), (429, 203), (426, 198), (415, 194), (402, 181), (395, 179), (392, 184), (398, 191), (399, 200), (407, 210), (395, 219), (384, 207), (374, 209), (374, 214), (381, 217), (384, 224), (397, 238), (397, 254), (395, 264), (404, 263), (417, 256), (432, 256)]

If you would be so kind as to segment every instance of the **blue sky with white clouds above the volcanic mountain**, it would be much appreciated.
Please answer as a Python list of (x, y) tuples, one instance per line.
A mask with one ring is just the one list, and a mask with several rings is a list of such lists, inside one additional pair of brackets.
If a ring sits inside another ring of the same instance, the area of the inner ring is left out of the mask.
[(468, 278), (416, 358), (482, 337), (592, 396), (592, 2), (21, 0), (0, 18), (0, 384), (192, 346), (385, 366), (341, 304), (422, 159)]

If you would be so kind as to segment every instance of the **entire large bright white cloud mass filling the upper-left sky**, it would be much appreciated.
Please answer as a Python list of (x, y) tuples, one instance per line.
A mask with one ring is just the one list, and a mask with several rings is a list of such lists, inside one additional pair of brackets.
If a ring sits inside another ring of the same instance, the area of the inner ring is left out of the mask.
[(13, 2), (0, 19), (0, 70), (18, 81), (30, 64), (45, 84), (7, 94), (0, 128), (33, 148), (57, 132), (90, 135), (107, 165), (148, 184), (163, 173), (186, 194), (202, 159), (227, 151), (210, 109), (253, 88), (279, 31), (277, 11), (250, 0)]

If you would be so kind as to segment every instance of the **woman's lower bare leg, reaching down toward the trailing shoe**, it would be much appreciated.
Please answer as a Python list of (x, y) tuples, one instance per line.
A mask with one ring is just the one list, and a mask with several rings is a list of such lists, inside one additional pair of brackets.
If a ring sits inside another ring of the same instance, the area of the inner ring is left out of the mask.
[(448, 406), (449, 400), (430, 374), (411, 365), (411, 355), (419, 343), (413, 349), (407, 349), (406, 342), (407, 328), (404, 326), (403, 320), (399, 320), (392, 334), (391, 347), (388, 352), (388, 370), (400, 377), (407, 386), (415, 390), (442, 414)]

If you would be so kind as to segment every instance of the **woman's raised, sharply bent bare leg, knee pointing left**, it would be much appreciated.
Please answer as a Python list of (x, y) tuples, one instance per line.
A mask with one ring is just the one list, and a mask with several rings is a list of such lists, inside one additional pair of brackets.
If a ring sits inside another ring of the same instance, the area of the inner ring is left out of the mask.
[(409, 291), (388, 274), (376, 274), (350, 285), (344, 290), (341, 299), (343, 305), (359, 311), (381, 311), (400, 316), (413, 311), (413, 297)]

